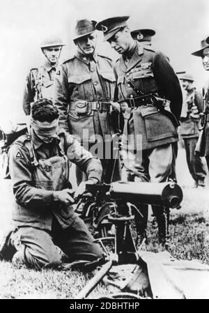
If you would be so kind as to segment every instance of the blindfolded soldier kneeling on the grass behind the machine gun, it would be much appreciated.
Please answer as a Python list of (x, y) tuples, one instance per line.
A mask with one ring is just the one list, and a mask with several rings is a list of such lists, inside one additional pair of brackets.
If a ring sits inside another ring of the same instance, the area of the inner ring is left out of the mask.
[(84, 222), (74, 213), (69, 185), (68, 159), (86, 171), (75, 197), (86, 183), (99, 183), (102, 166), (98, 158), (59, 129), (59, 112), (51, 100), (40, 99), (31, 108), (30, 135), (18, 138), (10, 148), (9, 167), (15, 204), (13, 230), (0, 247), (0, 258), (33, 268), (61, 265), (68, 259), (93, 261), (100, 247)]

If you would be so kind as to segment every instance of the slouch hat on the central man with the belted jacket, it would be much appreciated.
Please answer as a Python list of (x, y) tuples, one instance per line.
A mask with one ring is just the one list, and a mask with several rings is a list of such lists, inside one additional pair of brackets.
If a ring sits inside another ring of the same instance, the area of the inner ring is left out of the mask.
[(73, 41), (79, 38), (82, 38), (86, 35), (89, 35), (90, 33), (93, 33), (95, 31), (95, 24), (97, 24), (97, 22), (93, 20), (77, 21), (77, 24), (75, 26), (75, 36), (73, 38)]

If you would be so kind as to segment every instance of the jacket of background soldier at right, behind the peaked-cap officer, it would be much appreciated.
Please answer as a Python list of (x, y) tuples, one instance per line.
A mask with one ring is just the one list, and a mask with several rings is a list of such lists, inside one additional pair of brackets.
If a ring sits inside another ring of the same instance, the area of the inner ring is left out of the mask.
[(190, 116), (192, 106), (196, 106), (199, 113), (202, 111), (203, 97), (196, 89), (192, 89), (187, 93), (183, 102), (183, 109), (180, 116), (180, 135), (183, 138), (199, 137), (199, 119), (193, 119)]

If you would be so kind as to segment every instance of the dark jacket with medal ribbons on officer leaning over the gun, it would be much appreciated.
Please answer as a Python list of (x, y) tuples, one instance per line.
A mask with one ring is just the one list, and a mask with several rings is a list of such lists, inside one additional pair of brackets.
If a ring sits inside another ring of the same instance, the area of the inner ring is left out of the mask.
[[(171, 101), (171, 112), (179, 119), (182, 107), (182, 92), (178, 77), (162, 52), (155, 52), (148, 46), (136, 43), (134, 54), (125, 65), (123, 56), (116, 61), (114, 72), (117, 79), (116, 100), (122, 102), (130, 97), (139, 96), (128, 84), (130, 78), (137, 90), (145, 95), (155, 93)], [(171, 119), (162, 114), (153, 105), (142, 105), (135, 109), (127, 109), (124, 114), (125, 135), (141, 135), (142, 145), (137, 148), (146, 150), (162, 144), (178, 141), (176, 126)], [(140, 136), (139, 136), (140, 137)]]

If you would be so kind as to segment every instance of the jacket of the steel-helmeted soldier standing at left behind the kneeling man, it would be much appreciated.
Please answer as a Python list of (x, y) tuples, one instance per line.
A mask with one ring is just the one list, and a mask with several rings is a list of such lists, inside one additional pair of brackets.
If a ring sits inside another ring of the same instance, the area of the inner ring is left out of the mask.
[(57, 64), (45, 62), (40, 68), (32, 68), (26, 77), (23, 96), (23, 109), (26, 115), (31, 112), (31, 103), (39, 98), (52, 99), (54, 75)]

